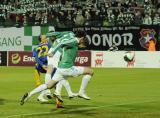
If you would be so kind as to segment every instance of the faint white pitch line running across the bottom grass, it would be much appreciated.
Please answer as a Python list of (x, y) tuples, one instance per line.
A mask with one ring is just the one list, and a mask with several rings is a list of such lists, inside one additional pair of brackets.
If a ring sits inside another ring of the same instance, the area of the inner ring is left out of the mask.
[[(76, 109), (68, 109), (68, 112), (72, 111), (81, 111), (81, 110), (90, 110), (90, 109), (98, 109), (98, 108), (107, 108), (112, 106), (120, 106), (120, 105), (130, 105), (130, 104), (138, 104), (138, 103), (147, 103), (147, 102), (155, 102), (155, 101), (144, 101), (144, 102), (133, 102), (133, 103), (125, 103), (125, 104), (110, 104), (110, 105), (104, 105), (104, 106), (95, 106), (95, 107), (84, 107), (84, 108), (76, 108)], [(59, 109), (59, 110), (65, 110)], [(59, 110), (52, 111), (52, 112), (36, 112), (36, 113), (28, 113), (28, 114), (18, 114), (18, 115), (11, 115), (11, 116), (0, 116), (0, 118), (17, 118), (17, 117), (24, 117), (24, 116), (36, 116), (36, 115), (47, 115), (47, 114), (53, 114), (59, 112)]]

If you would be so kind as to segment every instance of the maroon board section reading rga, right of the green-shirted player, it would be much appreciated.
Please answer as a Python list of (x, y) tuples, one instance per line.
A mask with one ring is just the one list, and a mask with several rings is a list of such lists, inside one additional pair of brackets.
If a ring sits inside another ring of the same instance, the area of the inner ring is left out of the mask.
[(75, 59), (76, 66), (91, 66), (91, 52), (79, 51)]

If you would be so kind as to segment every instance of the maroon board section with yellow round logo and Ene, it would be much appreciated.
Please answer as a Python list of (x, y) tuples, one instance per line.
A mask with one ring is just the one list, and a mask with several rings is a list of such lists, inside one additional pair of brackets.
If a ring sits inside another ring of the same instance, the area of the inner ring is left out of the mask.
[(9, 66), (34, 66), (35, 60), (32, 52), (9, 52)]

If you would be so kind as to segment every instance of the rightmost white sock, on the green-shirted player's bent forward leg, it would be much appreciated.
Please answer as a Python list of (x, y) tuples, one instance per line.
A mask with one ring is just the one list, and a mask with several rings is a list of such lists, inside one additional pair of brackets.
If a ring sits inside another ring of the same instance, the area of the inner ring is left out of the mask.
[(84, 75), (83, 76), (79, 93), (82, 93), (82, 94), (85, 93), (88, 82), (90, 81), (91, 77), (92, 77), (91, 75)]

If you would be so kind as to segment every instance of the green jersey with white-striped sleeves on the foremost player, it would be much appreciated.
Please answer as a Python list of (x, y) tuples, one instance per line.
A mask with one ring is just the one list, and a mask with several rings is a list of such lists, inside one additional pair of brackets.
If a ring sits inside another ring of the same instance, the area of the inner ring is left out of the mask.
[(59, 68), (70, 68), (74, 65), (75, 58), (78, 52), (78, 39), (73, 32), (53, 32), (52, 36), (55, 36), (56, 43), (53, 46), (52, 52), (62, 48), (62, 57), (58, 64)]

